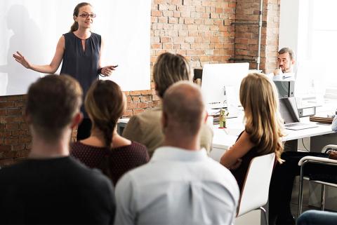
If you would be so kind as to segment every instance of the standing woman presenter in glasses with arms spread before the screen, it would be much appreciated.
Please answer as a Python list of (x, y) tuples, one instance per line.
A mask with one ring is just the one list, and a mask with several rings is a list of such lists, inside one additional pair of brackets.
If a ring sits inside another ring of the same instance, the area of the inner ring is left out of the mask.
[[(62, 62), (60, 74), (68, 74), (77, 79), (83, 88), (85, 97), (91, 83), (98, 79), (98, 75), (110, 76), (116, 67), (111, 65), (102, 67), (101, 65), (103, 40), (99, 34), (91, 32), (91, 24), (95, 17), (96, 14), (93, 13), (91, 4), (83, 2), (74, 8), (74, 24), (70, 32), (60, 37), (50, 64), (31, 64), (19, 52), (13, 54), (13, 57), (27, 69), (44, 74), (54, 74)], [(84, 119), (77, 128), (77, 140), (89, 137), (91, 131), (91, 121), (83, 105), (81, 111)]]

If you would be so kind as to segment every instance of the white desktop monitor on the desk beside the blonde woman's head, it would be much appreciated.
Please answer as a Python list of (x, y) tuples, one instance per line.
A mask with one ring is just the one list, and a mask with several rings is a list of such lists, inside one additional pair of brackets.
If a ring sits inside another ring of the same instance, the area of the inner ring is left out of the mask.
[[(227, 107), (227, 102), (239, 103), (242, 79), (249, 74), (249, 63), (204, 64), (201, 92), (207, 109)], [(227, 90), (226, 90), (227, 89)], [(227, 99), (230, 97), (230, 99)]]

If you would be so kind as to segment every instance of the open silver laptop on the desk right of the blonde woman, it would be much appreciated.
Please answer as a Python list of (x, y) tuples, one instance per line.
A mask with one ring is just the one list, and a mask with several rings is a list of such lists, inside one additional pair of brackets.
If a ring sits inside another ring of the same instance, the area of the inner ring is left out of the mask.
[(295, 97), (280, 98), (279, 111), (284, 119), (284, 128), (288, 130), (303, 130), (318, 127), (315, 123), (300, 123)]

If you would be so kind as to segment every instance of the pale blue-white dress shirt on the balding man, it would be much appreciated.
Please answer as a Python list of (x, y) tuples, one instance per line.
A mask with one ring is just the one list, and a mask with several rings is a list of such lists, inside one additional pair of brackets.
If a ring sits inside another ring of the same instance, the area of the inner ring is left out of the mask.
[(239, 188), (206, 151), (163, 146), (116, 187), (114, 224), (232, 224)]

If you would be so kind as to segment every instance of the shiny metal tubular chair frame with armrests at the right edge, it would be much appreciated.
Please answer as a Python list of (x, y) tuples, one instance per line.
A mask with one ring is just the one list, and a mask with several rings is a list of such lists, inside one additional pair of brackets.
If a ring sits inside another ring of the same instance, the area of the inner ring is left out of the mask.
[[(337, 145), (329, 144), (323, 147), (322, 152), (328, 153), (331, 150), (336, 150)], [(322, 185), (321, 192), (321, 210), (324, 211), (325, 205), (325, 186), (333, 186), (337, 187), (337, 184), (324, 182), (320, 180), (310, 180), (309, 177), (304, 177), (304, 166), (308, 163), (315, 163), (320, 165), (332, 165), (337, 166), (337, 160), (333, 160), (330, 158), (322, 158), (317, 156), (305, 156), (298, 161), (298, 165), (300, 166), (300, 186), (298, 190), (298, 217), (302, 214), (302, 206), (303, 206), (303, 179), (307, 179), (309, 182), (314, 182)]]

